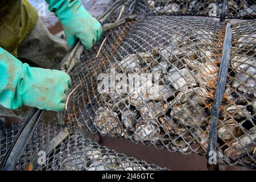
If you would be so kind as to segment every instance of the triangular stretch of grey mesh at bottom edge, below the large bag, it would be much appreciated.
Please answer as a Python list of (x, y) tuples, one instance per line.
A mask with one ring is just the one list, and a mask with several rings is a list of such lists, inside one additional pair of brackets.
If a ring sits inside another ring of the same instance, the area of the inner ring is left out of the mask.
[(79, 134), (72, 134), (60, 144), (47, 158), (45, 165), (39, 170), (61, 171), (146, 171), (163, 170), (154, 164), (129, 158), (113, 150), (100, 146)]

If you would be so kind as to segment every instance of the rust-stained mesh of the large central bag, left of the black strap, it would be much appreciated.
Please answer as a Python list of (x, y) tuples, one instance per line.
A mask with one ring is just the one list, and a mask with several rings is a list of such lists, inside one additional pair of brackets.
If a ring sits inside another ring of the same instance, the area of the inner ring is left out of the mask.
[[(69, 104), (69, 109), (77, 110), (79, 124), (90, 131), (97, 129), (101, 134), (154, 144), (171, 151), (199, 152), (207, 138), (207, 133), (204, 134), (201, 127), (207, 124), (209, 118), (207, 103), (210, 104), (212, 91), (206, 88), (214, 88), (222, 31), (220, 23), (205, 19), (149, 16), (135, 23), (119, 45), (113, 44), (114, 41), (112, 43), (115, 38), (111, 36), (97, 59), (87, 57), (87, 53), (82, 56), (85, 62), (74, 71), (77, 75), (73, 78), (84, 81), (72, 94), (73, 104)], [(97, 51), (97, 48), (93, 51)], [(201, 79), (198, 81), (202, 82), (200, 86), (194, 80), (204, 74), (201, 71), (205, 71), (207, 65), (214, 69), (210, 77), (212, 82), (209, 84), (207, 78)], [(146, 86), (141, 80), (138, 90), (136, 88), (130, 93), (98, 93), (97, 76), (99, 73), (109, 73), (110, 67), (118, 73), (159, 73), (159, 84), (152, 79), (147, 82), (150, 88), (144, 89)], [(95, 76), (93, 73), (96, 73)], [(73, 82), (79, 84), (76, 80)], [(159, 89), (159, 93), (150, 93), (155, 89)], [(192, 118), (189, 118), (191, 113), (181, 110), (179, 102), (186, 99), (184, 96), (202, 103), (202, 106), (190, 106), (189, 102), (185, 102), (190, 112), (200, 110), (193, 113)], [(76, 105), (76, 101), (79, 105)], [(181, 123), (177, 121), (180, 115), (184, 115)], [(169, 121), (171, 117), (173, 121)], [(200, 121), (197, 122), (197, 119)], [(187, 125), (183, 125), (186, 122)], [(199, 133), (194, 137), (196, 139), (192, 137), (193, 130)], [(192, 147), (193, 143), (199, 146)], [(206, 150), (205, 146), (203, 148), (200, 152)]]

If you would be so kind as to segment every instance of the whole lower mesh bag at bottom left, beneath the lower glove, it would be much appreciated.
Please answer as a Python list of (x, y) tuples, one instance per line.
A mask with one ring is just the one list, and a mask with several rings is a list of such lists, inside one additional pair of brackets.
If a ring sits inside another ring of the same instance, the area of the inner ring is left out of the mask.
[[(7, 127), (0, 137), (0, 155), (2, 162), (8, 148), (14, 140), (23, 121), (18, 125)], [(37, 158), (44, 152), (44, 146), (53, 141), (63, 128), (56, 124), (41, 122), (28, 140), (14, 170), (47, 170), (47, 171), (151, 171), (167, 170), (154, 164), (147, 164), (135, 158), (119, 154), (114, 150), (100, 146), (80, 134), (71, 132), (67, 137), (46, 155), (46, 159)], [(38, 162), (39, 161), (39, 162)], [(42, 164), (40, 163), (42, 161)], [(40, 164), (40, 165), (39, 165)]]

